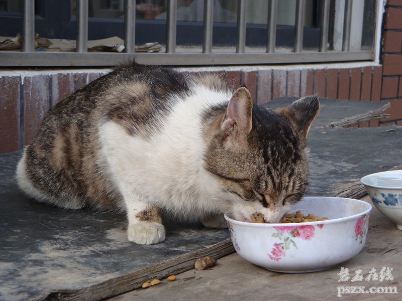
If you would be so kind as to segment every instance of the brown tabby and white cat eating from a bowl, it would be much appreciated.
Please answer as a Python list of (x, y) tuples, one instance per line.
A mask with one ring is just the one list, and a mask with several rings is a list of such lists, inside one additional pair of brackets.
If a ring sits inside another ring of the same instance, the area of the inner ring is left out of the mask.
[(307, 190), (319, 110), (316, 95), (265, 109), (222, 75), (127, 63), (46, 114), (17, 180), (40, 202), (125, 212), (138, 244), (165, 239), (162, 213), (278, 222)]

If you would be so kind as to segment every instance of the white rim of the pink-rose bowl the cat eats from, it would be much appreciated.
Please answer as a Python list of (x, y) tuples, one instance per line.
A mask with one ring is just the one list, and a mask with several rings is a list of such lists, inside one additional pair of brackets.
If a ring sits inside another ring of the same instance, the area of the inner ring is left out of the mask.
[(345, 221), (349, 221), (349, 220), (353, 220), (358, 218), (359, 216), (362, 215), (368, 215), (370, 213), (370, 211), (372, 210), (372, 206), (370, 203), (366, 202), (366, 201), (362, 201), (362, 200), (356, 200), (356, 199), (352, 199), (352, 198), (342, 198), (342, 197), (326, 197), (326, 196), (309, 196), (309, 197), (304, 197), (303, 199), (344, 199), (344, 200), (353, 200), (353, 201), (357, 201), (358, 203), (364, 203), (368, 206), (368, 208), (366, 210), (364, 210), (363, 212), (354, 214), (354, 215), (350, 215), (350, 216), (345, 216), (345, 217), (339, 217), (339, 218), (333, 218), (333, 219), (328, 219), (325, 221), (315, 221), (315, 222), (302, 222), (302, 223), (251, 223), (251, 222), (243, 222), (243, 221), (238, 221), (235, 220), (231, 217), (228, 216), (227, 213), (224, 214), (225, 219), (228, 222), (234, 223), (234, 224), (238, 224), (238, 225), (247, 225), (247, 226), (251, 226), (251, 227), (265, 227), (265, 228), (271, 228), (271, 227), (284, 227), (284, 226), (300, 226), (300, 225), (318, 225), (318, 224), (334, 224), (334, 223), (339, 223), (339, 222), (345, 222)]

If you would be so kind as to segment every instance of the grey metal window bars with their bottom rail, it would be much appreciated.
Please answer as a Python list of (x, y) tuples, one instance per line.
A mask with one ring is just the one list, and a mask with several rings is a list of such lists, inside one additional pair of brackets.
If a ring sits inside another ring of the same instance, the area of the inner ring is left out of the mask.
[(267, 12), (267, 45), (264, 51), (247, 51), (246, 19), (247, 0), (238, 0), (236, 50), (216, 50), (212, 47), (214, 0), (204, 1), (203, 45), (200, 52), (189, 52), (176, 47), (177, 1), (167, 1), (166, 47), (164, 53), (135, 52), (135, 0), (125, 0), (125, 52), (87, 52), (88, 0), (77, 0), (76, 52), (35, 52), (34, 2), (24, 0), (22, 52), (0, 52), (0, 66), (112, 66), (125, 59), (136, 58), (139, 63), (161, 65), (251, 65), (290, 64), (313, 62), (339, 62), (374, 60), (374, 48), (350, 51), (352, 0), (346, 0), (342, 50), (328, 50), (330, 0), (322, 0), (321, 36), (318, 50), (303, 49), (305, 0), (296, 0), (294, 47), (291, 52), (277, 51), (276, 11), (277, 0), (269, 0)]

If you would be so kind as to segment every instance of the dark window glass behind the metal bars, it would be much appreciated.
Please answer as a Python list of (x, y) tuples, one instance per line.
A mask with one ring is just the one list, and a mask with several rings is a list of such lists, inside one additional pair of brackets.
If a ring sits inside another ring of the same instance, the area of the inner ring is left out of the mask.
[[(35, 0), (35, 32), (49, 39), (75, 40), (77, 33), (77, 1), (78, 0)], [(124, 39), (125, 33), (125, 0), (87, 0), (88, 1), (88, 40), (98, 40), (110, 37)], [(300, 2), (299, 2), (300, 1)], [(22, 1), (21, 1), (22, 2)], [(0, 36), (15, 37), (22, 32), (21, 12), (23, 6), (16, 0), (0, 0)], [(249, 0), (245, 2), (245, 46), (253, 53), (266, 53), (264, 48), (268, 42), (268, 6), (276, 3), (275, 9), (275, 53), (295, 52), (297, 4), (303, 3), (303, 37), (301, 42), (303, 52), (322, 51), (323, 12), (328, 7), (329, 27), (325, 36), (326, 50), (329, 52), (345, 52), (336, 56), (328, 54), (327, 58), (310, 56), (308, 60), (293, 55), (293, 58), (273, 62), (291, 63), (299, 60), (308, 61), (339, 61), (339, 60), (370, 60), (373, 59), (373, 43), (375, 32), (376, 1), (345, 1), (345, 0)], [(348, 7), (348, 3), (353, 4)], [(137, 0), (135, 2), (135, 45), (148, 42), (166, 44), (166, 0)], [(176, 35), (177, 47), (191, 49), (198, 53), (204, 38), (204, 0), (177, 0)], [(232, 52), (238, 42), (238, 1), (213, 1), (212, 48), (217, 52)], [(347, 12), (353, 18), (346, 22)], [(363, 18), (364, 17), (364, 18)], [(326, 19), (327, 20), (327, 19)], [(345, 43), (345, 33), (350, 28), (350, 37)], [(347, 48), (345, 48), (347, 44)], [(300, 52), (296, 51), (296, 52)], [(363, 55), (348, 54), (349, 51), (365, 51)], [(183, 53), (183, 50), (181, 50)], [(184, 51), (185, 52), (185, 51)], [(370, 54), (371, 52), (371, 54)], [(0, 58), (3, 52), (0, 52)], [(162, 53), (160, 53), (162, 54)], [(89, 54), (88, 54), (89, 55)], [(138, 54), (142, 55), (142, 54)], [(110, 54), (109, 57), (111, 57)], [(278, 55), (276, 55), (279, 57)], [(38, 55), (39, 57), (39, 55)], [(94, 55), (92, 57), (95, 57)], [(145, 54), (144, 54), (145, 57)], [(262, 57), (262, 56), (261, 56)], [(272, 56), (273, 58), (274, 56)], [(290, 56), (289, 56), (290, 57)], [(267, 56), (269, 58), (269, 56)], [(256, 63), (257, 59), (252, 60)], [(269, 63), (270, 60), (261, 60)], [(180, 63), (180, 62), (178, 62)], [(194, 61), (194, 64), (203, 63)], [(216, 63), (216, 62), (215, 62)], [(51, 63), (48, 63), (51, 64)], [(110, 64), (106, 62), (105, 64)], [(170, 63), (169, 63), (170, 64)], [(207, 64), (207, 63), (206, 63)], [(226, 63), (225, 63), (226, 64)], [(101, 63), (102, 65), (102, 63)]]

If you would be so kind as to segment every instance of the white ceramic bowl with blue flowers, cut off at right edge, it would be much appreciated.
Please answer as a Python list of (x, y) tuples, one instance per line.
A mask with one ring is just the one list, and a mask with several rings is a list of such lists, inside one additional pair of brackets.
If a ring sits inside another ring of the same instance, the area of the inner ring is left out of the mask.
[(375, 208), (402, 230), (402, 171), (388, 171), (361, 178)]

